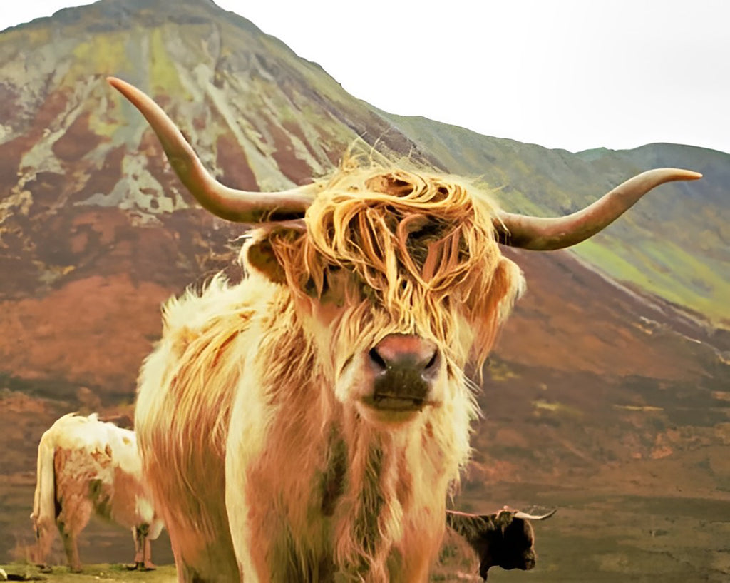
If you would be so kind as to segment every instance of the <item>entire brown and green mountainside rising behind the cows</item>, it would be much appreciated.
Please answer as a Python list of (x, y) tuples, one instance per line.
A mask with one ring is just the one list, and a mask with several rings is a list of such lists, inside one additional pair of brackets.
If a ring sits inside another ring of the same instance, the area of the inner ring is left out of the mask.
[(650, 167), (703, 172), (572, 251), (505, 250), (528, 293), (485, 371), (457, 501), (561, 506), (539, 527), (542, 581), (639, 580), (645, 564), (666, 582), (726, 580), (727, 551), (703, 528), (726, 528), (713, 509), (730, 500), (730, 156), (573, 154), (391, 115), (210, 0), (101, 0), (0, 33), (0, 557), (30, 540), (42, 432), (77, 409), (131, 415), (161, 302), (241, 275), (241, 227), (197, 205), (107, 75), (157, 99), (220, 180), (250, 190), (326, 175), (353, 145), (466, 175), (534, 214)]

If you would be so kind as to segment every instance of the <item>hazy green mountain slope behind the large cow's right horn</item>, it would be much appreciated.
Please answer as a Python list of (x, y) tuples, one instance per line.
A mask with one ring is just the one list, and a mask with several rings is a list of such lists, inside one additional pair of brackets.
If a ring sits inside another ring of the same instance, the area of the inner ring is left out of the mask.
[(617, 281), (730, 327), (730, 155), (670, 144), (572, 154), (388, 117), (448, 171), (495, 189), (507, 210), (523, 213), (572, 212), (645, 169), (702, 172), (699, 182), (662, 186), (572, 252)]

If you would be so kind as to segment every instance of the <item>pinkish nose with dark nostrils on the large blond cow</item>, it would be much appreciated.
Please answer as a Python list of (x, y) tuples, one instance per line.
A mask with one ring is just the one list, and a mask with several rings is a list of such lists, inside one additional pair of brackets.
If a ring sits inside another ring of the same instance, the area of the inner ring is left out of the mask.
[(369, 359), (376, 375), (410, 370), (430, 380), (437, 370), (439, 352), (430, 340), (410, 334), (391, 334), (370, 349)]

